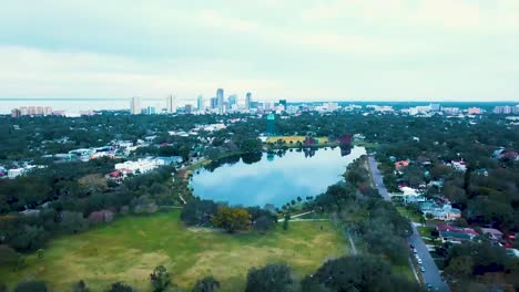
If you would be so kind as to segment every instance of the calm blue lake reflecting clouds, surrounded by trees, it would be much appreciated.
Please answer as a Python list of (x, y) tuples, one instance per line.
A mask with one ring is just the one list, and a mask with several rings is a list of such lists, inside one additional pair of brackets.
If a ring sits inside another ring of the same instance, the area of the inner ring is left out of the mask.
[(261, 154), (232, 157), (195, 173), (194, 195), (230, 205), (281, 207), (301, 197), (316, 196), (343, 179), (346, 167), (366, 154), (354, 147), (347, 155), (339, 147), (315, 153), (287, 150), (284, 155)]

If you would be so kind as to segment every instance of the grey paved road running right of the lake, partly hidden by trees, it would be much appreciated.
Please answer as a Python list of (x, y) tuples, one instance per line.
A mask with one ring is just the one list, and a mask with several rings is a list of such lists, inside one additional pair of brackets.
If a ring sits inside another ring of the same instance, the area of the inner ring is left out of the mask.
[[(377, 167), (377, 161), (373, 156), (368, 157), (369, 168), (372, 169), (373, 179), (378, 189), (378, 192), (384, 197), (385, 200), (390, 200), (389, 192), (387, 192), (386, 186), (384, 185), (383, 176)], [(445, 281), (441, 280), (438, 267), (436, 267), (432, 257), (430, 257), (429, 250), (427, 249), (424, 240), (420, 238), (415, 223), (413, 223), (413, 234), (407, 240), (409, 244), (416, 248), (418, 255), (420, 257), (425, 272), (421, 273), (424, 281), (431, 284), (438, 291), (450, 291), (449, 286)]]

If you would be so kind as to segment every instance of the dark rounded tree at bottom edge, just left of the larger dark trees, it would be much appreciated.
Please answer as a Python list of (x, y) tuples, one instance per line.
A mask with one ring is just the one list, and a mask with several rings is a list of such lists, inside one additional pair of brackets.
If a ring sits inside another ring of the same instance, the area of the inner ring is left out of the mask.
[(291, 269), (286, 264), (267, 264), (252, 268), (247, 273), (245, 292), (285, 292), (293, 283)]

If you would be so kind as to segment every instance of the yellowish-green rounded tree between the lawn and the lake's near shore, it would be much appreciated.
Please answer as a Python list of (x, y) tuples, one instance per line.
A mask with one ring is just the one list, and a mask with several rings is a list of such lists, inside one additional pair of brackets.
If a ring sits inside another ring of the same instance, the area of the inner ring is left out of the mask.
[(218, 212), (212, 219), (215, 227), (225, 229), (232, 233), (236, 230), (246, 230), (251, 223), (251, 215), (244, 208), (220, 207)]

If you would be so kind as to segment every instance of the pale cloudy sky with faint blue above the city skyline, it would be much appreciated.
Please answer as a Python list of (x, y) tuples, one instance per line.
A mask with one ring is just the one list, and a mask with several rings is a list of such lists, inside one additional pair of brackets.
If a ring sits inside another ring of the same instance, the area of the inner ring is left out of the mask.
[(519, 101), (519, 0), (4, 0), (0, 97)]

